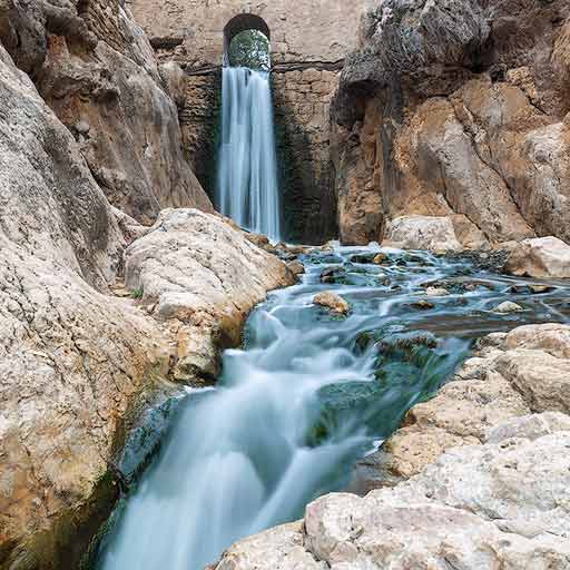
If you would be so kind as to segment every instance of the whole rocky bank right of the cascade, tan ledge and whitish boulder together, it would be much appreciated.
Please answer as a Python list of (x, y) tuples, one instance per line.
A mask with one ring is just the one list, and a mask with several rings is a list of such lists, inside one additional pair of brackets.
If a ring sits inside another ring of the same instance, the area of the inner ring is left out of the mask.
[[(568, 412), (569, 351), (564, 325), (490, 335), (396, 433), (421, 423), (415, 448), (401, 454), (402, 474), (415, 476), (365, 498), (325, 495), (302, 523), (235, 544), (214, 568), (568, 568), (570, 416), (560, 411)], [(505, 373), (523, 361), (534, 376)]]

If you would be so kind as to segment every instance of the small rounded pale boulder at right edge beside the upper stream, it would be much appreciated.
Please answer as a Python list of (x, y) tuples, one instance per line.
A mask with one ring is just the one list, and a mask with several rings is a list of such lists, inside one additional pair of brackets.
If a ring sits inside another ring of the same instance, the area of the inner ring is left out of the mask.
[(570, 245), (557, 237), (525, 239), (509, 255), (505, 271), (528, 277), (570, 278)]

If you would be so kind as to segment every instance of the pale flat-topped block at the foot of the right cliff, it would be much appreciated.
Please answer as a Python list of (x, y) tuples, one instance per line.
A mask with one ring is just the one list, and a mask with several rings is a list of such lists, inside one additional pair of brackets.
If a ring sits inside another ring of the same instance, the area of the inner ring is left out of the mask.
[(390, 223), (384, 246), (402, 249), (459, 252), (453, 224), (448, 217), (403, 216)]

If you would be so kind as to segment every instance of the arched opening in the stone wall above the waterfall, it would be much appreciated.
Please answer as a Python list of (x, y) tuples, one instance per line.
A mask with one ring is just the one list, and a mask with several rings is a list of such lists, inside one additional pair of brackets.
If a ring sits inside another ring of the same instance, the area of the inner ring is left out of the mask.
[(224, 29), (224, 65), (249, 69), (271, 68), (271, 31), (263, 18), (243, 13)]

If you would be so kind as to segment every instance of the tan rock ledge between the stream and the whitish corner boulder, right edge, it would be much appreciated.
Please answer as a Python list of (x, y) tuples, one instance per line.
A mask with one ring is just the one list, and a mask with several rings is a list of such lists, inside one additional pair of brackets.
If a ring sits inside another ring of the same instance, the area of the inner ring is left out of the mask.
[(386, 441), (385, 464), (394, 476), (420, 473), (450, 448), (483, 442), (505, 420), (569, 412), (570, 326), (521, 326), (490, 335), (482, 345), (480, 355), (434, 399), (414, 406)]

